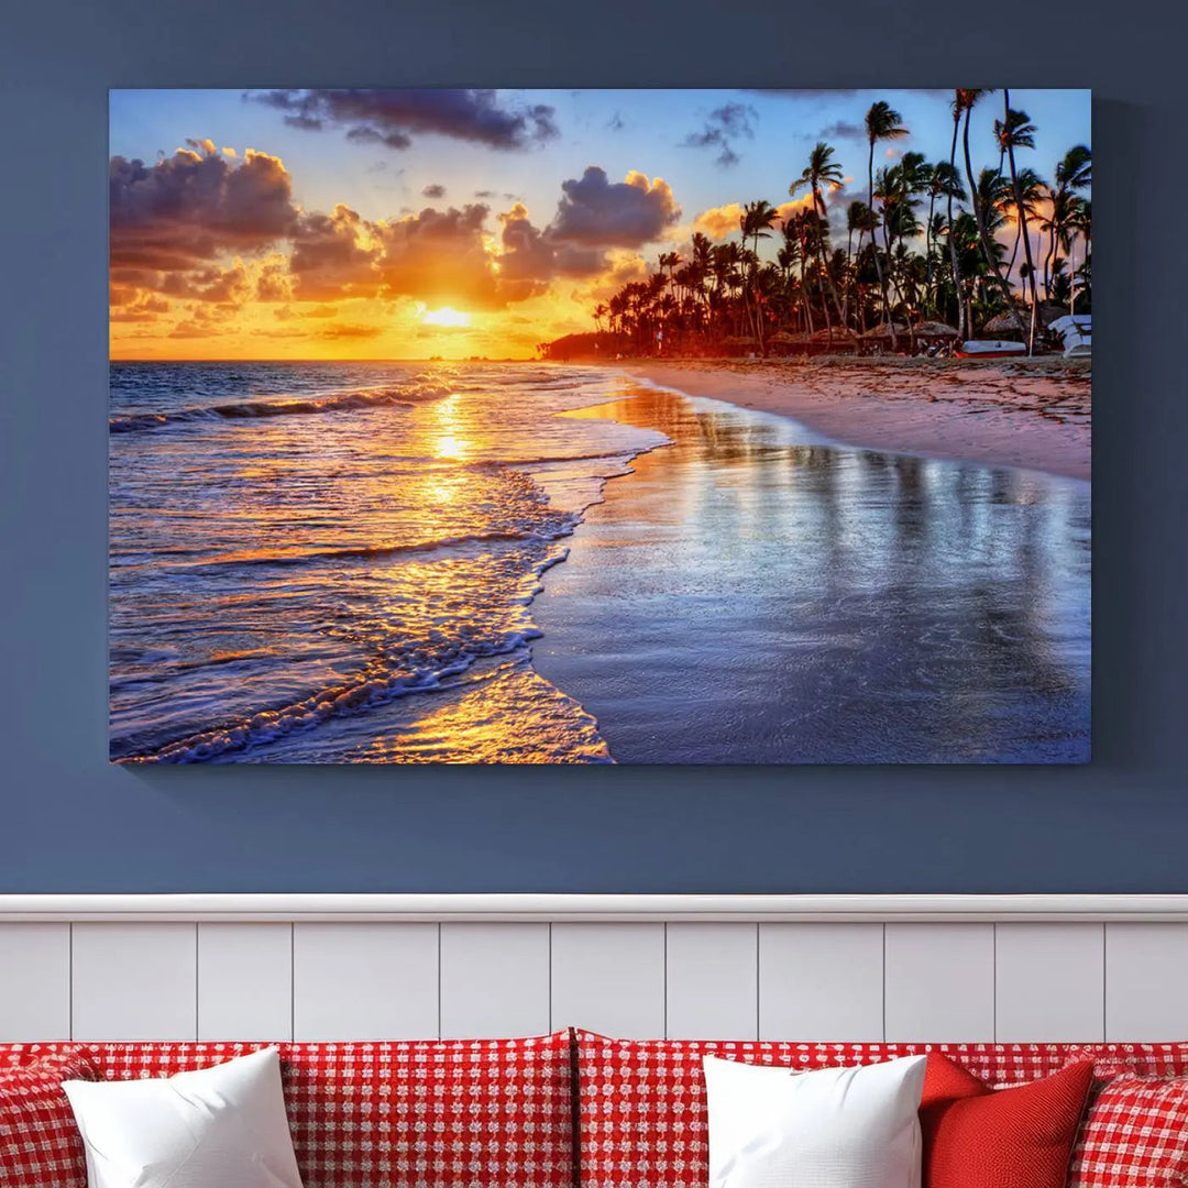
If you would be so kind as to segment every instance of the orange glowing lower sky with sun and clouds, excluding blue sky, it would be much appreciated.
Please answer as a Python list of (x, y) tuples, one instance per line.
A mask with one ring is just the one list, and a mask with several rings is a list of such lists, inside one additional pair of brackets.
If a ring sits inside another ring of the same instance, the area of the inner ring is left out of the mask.
[[(586, 181), (647, 211), (653, 242), (688, 234), (662, 178)], [(113, 158), (110, 356), (531, 358), (646, 272), (621, 242), (548, 242), (519, 202), (368, 220), (292, 195), (279, 157), (210, 140), (152, 166)], [(723, 235), (738, 226), (726, 215)]]

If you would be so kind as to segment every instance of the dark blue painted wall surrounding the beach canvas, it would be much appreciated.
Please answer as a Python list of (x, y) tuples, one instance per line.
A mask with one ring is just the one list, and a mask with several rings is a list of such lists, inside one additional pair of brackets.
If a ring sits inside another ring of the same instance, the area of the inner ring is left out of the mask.
[[(1188, 178), (1183, 42), (1161, 30), (1161, 0), (8, 5), (0, 891), (1188, 891), (1186, 260), (1169, 234)], [(1097, 96), (1093, 765), (107, 765), (108, 87), (1004, 81), (1091, 84)]]

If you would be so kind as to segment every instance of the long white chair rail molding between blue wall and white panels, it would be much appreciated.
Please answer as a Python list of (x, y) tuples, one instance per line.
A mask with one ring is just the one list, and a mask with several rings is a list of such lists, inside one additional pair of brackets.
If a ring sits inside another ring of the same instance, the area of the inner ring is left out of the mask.
[(1188, 895), (0, 895), (23, 922), (1186, 922)]

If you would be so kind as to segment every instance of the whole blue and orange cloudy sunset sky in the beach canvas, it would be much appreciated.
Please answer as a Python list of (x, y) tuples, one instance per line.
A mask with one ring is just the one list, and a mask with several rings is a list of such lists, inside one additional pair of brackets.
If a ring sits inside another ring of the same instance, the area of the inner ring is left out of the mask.
[[(1044, 94), (1017, 102), (1047, 129)], [(930, 94), (113, 91), (113, 355), (531, 355), (694, 230), (737, 240), (746, 202), (805, 209), (822, 129), (865, 183), (871, 97), (947, 159)], [(857, 196), (827, 195), (835, 242)]]

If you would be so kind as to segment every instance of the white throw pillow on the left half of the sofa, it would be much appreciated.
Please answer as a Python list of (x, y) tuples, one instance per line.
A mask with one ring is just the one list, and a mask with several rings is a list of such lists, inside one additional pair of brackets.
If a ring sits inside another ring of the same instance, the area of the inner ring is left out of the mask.
[(90, 1188), (302, 1188), (276, 1048), (146, 1081), (64, 1081)]

